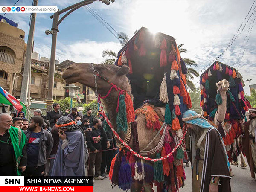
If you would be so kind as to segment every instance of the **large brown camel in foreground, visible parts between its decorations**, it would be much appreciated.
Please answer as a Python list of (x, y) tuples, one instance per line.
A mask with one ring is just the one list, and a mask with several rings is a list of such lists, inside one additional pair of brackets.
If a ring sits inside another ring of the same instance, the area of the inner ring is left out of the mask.
[[(63, 75), (62, 78), (66, 81), (66, 83), (75, 83), (79, 82), (81, 84), (84, 84), (91, 89), (95, 91), (95, 77), (93, 76), (93, 65), (88, 63), (75, 63), (72, 64), (70, 67), (68, 67)], [(129, 80), (126, 76), (126, 74), (129, 73), (129, 67), (122, 66), (118, 67), (113, 64), (97, 64), (94, 65), (95, 70), (103, 77), (108, 78), (110, 82), (113, 84), (116, 84), (116, 86), (120, 87), (122, 90), (127, 91), (127, 93), (131, 96), (131, 99), (133, 99), (133, 96), (131, 94), (131, 85), (129, 83)], [(97, 72), (94, 72), (97, 73)], [(111, 85), (108, 84), (108, 82), (97, 78), (97, 92), (101, 94), (102, 96), (105, 96), (108, 93), (108, 90), (111, 88)], [(112, 90), (110, 92), (110, 95), (106, 97), (105, 99), (102, 99), (102, 102), (104, 104), (105, 110), (109, 113), (109, 119), (111, 121), (111, 124), (113, 125), (113, 128), (116, 130), (116, 107), (117, 107), (117, 101), (118, 101), (118, 95), (119, 92)], [(164, 116), (164, 110), (165, 108), (160, 108), (160, 111), (163, 113)], [(140, 150), (145, 148), (148, 143), (150, 143), (151, 140), (155, 137), (157, 134), (157, 131), (153, 131), (153, 129), (146, 128), (146, 120), (144, 115), (139, 115), (136, 119), (137, 122), (137, 131), (138, 131), (138, 140), (139, 140), (139, 147)], [(121, 131), (119, 133), (119, 136), (122, 138), (122, 140), (125, 139), (127, 133)], [(160, 141), (160, 134), (156, 137), (154, 142), (149, 145), (147, 150), (153, 149)], [(133, 148), (133, 138), (131, 137), (130, 142), (128, 145)], [(135, 189), (137, 184), (133, 183), (131, 191), (137, 191), (140, 189)], [(145, 183), (143, 181), (143, 186), (145, 191), (151, 192), (151, 186), (148, 183)], [(139, 186), (141, 188), (141, 186)]]

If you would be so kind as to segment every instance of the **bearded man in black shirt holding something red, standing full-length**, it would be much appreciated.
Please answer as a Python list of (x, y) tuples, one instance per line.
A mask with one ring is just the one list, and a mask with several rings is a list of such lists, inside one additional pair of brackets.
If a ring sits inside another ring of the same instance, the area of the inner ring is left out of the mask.
[(94, 178), (102, 180), (104, 177), (100, 175), (100, 168), (102, 162), (102, 143), (107, 142), (108, 148), (110, 146), (107, 141), (107, 135), (101, 128), (102, 122), (100, 119), (93, 119), (92, 131), (88, 131), (86, 136), (87, 146), (89, 148), (89, 165), (88, 176), (93, 176), (93, 167), (95, 166)]

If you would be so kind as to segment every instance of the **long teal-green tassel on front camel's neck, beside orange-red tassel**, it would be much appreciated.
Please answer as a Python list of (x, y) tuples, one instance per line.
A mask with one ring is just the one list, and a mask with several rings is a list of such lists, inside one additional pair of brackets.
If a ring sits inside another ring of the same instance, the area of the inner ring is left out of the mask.
[(127, 131), (125, 96), (122, 94), (119, 96), (119, 108), (116, 116), (116, 126), (118, 133), (120, 131)]

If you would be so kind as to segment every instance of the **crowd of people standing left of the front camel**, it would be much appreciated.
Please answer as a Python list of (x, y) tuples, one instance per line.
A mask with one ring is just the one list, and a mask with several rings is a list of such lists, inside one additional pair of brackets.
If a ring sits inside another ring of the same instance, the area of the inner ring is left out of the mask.
[(46, 116), (40, 109), (31, 119), (23, 112), (0, 114), (0, 176), (88, 175), (103, 180), (116, 151), (112, 131), (103, 130), (90, 108), (84, 115), (76, 108), (63, 113), (54, 103)]

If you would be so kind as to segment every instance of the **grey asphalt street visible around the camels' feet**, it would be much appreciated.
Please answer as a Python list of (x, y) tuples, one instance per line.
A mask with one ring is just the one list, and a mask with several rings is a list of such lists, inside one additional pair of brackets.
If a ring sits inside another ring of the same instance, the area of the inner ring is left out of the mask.
[[(230, 182), (232, 192), (256, 191), (256, 181), (250, 177), (250, 170), (249, 170), (248, 164), (246, 168), (241, 168), (240, 159), (239, 159), (239, 166), (233, 166), (233, 165), (231, 166), (235, 174), (235, 176), (232, 177)], [(186, 172), (185, 187), (183, 189), (180, 189), (180, 192), (191, 192), (192, 191), (191, 166), (189, 167), (185, 166), (185, 172)], [(155, 192), (157, 191), (157, 188), (155, 186), (153, 189)], [(95, 192), (121, 192), (122, 190), (118, 189), (118, 186), (112, 189), (110, 180), (106, 178), (104, 180), (95, 180), (94, 191)]]

